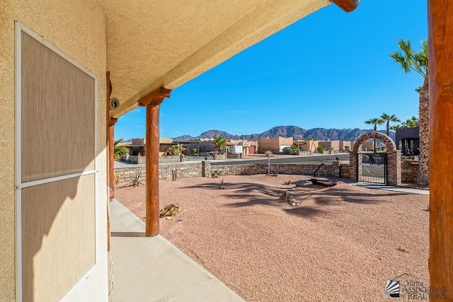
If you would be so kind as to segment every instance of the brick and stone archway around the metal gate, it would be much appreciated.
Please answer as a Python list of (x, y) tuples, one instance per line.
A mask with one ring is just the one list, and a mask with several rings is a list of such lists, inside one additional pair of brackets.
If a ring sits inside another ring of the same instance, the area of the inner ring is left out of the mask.
[(386, 147), (387, 153), (387, 184), (401, 185), (401, 150), (396, 149), (396, 144), (391, 137), (380, 132), (369, 132), (363, 134), (355, 141), (352, 151), (349, 153), (349, 178), (352, 181), (357, 181), (357, 154), (360, 153), (360, 146), (368, 139), (379, 139)]

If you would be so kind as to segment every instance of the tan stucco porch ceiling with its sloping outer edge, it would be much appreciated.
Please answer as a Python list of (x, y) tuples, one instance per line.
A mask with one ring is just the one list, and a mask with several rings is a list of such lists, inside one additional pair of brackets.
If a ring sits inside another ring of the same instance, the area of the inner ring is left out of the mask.
[(107, 66), (119, 117), (330, 4), (328, 0), (105, 0)]

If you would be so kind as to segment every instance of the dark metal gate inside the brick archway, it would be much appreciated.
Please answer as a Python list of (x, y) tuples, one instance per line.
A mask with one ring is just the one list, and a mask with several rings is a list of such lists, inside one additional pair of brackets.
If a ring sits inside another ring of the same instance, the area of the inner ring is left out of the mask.
[(387, 154), (357, 153), (357, 181), (387, 184)]

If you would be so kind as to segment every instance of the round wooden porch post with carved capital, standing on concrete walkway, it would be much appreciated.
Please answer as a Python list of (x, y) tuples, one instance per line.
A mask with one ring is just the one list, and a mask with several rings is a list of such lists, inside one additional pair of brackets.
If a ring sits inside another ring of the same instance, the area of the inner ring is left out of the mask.
[(159, 235), (159, 108), (171, 90), (158, 88), (139, 100), (147, 108), (146, 235)]

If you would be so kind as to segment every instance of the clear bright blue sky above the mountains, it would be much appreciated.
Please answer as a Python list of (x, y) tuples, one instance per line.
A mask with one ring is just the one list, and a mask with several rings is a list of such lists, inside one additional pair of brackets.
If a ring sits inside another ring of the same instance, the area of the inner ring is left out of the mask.
[[(364, 121), (382, 112), (418, 116), (423, 79), (389, 57), (396, 40), (419, 50), (428, 37), (426, 1), (410, 2), (362, 0), (352, 13), (331, 5), (280, 30), (174, 89), (161, 105), (161, 137), (280, 125), (369, 129)], [(115, 139), (144, 135), (144, 108), (115, 124)]]

